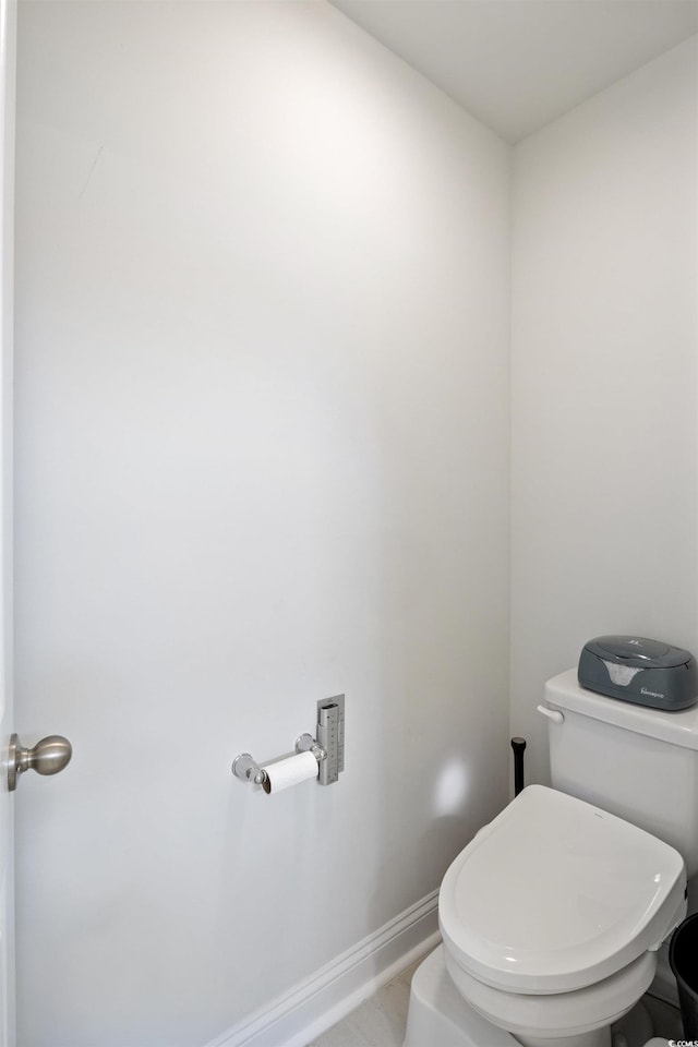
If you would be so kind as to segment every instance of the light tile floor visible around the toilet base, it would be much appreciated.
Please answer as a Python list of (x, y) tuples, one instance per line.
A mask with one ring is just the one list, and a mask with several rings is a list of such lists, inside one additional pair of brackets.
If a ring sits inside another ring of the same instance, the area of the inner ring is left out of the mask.
[[(410, 982), (420, 963), (421, 959), (348, 1014), (339, 1024), (313, 1039), (308, 1047), (402, 1047)], [(645, 1000), (654, 1025), (654, 1034), (681, 1039), (683, 1032), (678, 1010), (648, 997)], [(642, 1042), (646, 1035), (647, 1033), (641, 1036)], [(630, 1043), (633, 1039), (631, 1035), (628, 1036)]]

